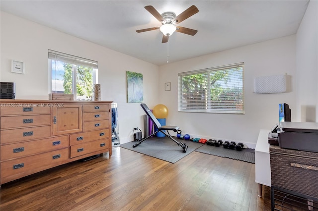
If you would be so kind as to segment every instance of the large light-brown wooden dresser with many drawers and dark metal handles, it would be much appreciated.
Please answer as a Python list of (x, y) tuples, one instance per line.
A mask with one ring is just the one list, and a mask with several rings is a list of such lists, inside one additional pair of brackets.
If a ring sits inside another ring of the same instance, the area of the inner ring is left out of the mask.
[(0, 184), (111, 156), (112, 101), (0, 100)]

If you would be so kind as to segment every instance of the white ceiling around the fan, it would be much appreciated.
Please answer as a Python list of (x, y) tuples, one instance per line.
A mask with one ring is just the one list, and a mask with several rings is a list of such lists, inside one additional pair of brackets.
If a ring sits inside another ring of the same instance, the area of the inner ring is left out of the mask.
[[(179, 25), (196, 29), (175, 32), (161, 44), (160, 26), (144, 7), (176, 15), (191, 5), (199, 12)], [(215, 53), (295, 34), (308, 0), (1, 0), (2, 11), (125, 53), (153, 64)]]

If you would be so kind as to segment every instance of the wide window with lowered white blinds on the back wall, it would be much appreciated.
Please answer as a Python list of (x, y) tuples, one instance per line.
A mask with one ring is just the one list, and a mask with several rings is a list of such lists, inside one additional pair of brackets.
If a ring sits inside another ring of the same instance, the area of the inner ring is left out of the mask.
[(178, 74), (179, 111), (244, 114), (244, 63)]

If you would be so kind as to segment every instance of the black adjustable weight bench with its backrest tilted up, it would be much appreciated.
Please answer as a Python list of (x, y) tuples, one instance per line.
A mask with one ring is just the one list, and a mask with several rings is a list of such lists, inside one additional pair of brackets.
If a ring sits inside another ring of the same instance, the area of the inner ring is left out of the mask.
[[(158, 121), (158, 119), (155, 117), (155, 115), (153, 114), (153, 112), (151, 112), (151, 110), (149, 109), (149, 107), (146, 104), (140, 104), (140, 106), (144, 109), (144, 111), (146, 112), (146, 114), (148, 115), (148, 117), (154, 122), (154, 124), (156, 125), (156, 127), (158, 128), (158, 130), (151, 134), (150, 136), (144, 138), (143, 140), (139, 141), (137, 144), (134, 144), (133, 147), (137, 147), (138, 145), (140, 145), (143, 141), (147, 140), (149, 137), (156, 135), (156, 133), (161, 132), (164, 135), (166, 135), (169, 139), (171, 139), (172, 141), (174, 141), (178, 146), (182, 147), (183, 152), (187, 152), (188, 149), (188, 145), (186, 145), (185, 143), (182, 142), (178, 142), (176, 141), (174, 138), (172, 138), (169, 134), (169, 130), (172, 130), (173, 132), (177, 132), (179, 130), (178, 126), (161, 126), (160, 122)], [(164, 130), (166, 130), (166, 132), (164, 132)]]

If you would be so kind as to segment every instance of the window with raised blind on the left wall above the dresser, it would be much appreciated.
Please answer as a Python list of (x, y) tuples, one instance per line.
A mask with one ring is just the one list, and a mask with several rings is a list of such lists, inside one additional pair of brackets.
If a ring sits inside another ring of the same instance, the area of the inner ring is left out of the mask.
[(49, 50), (52, 93), (73, 94), (74, 100), (91, 100), (97, 81), (97, 61)]

